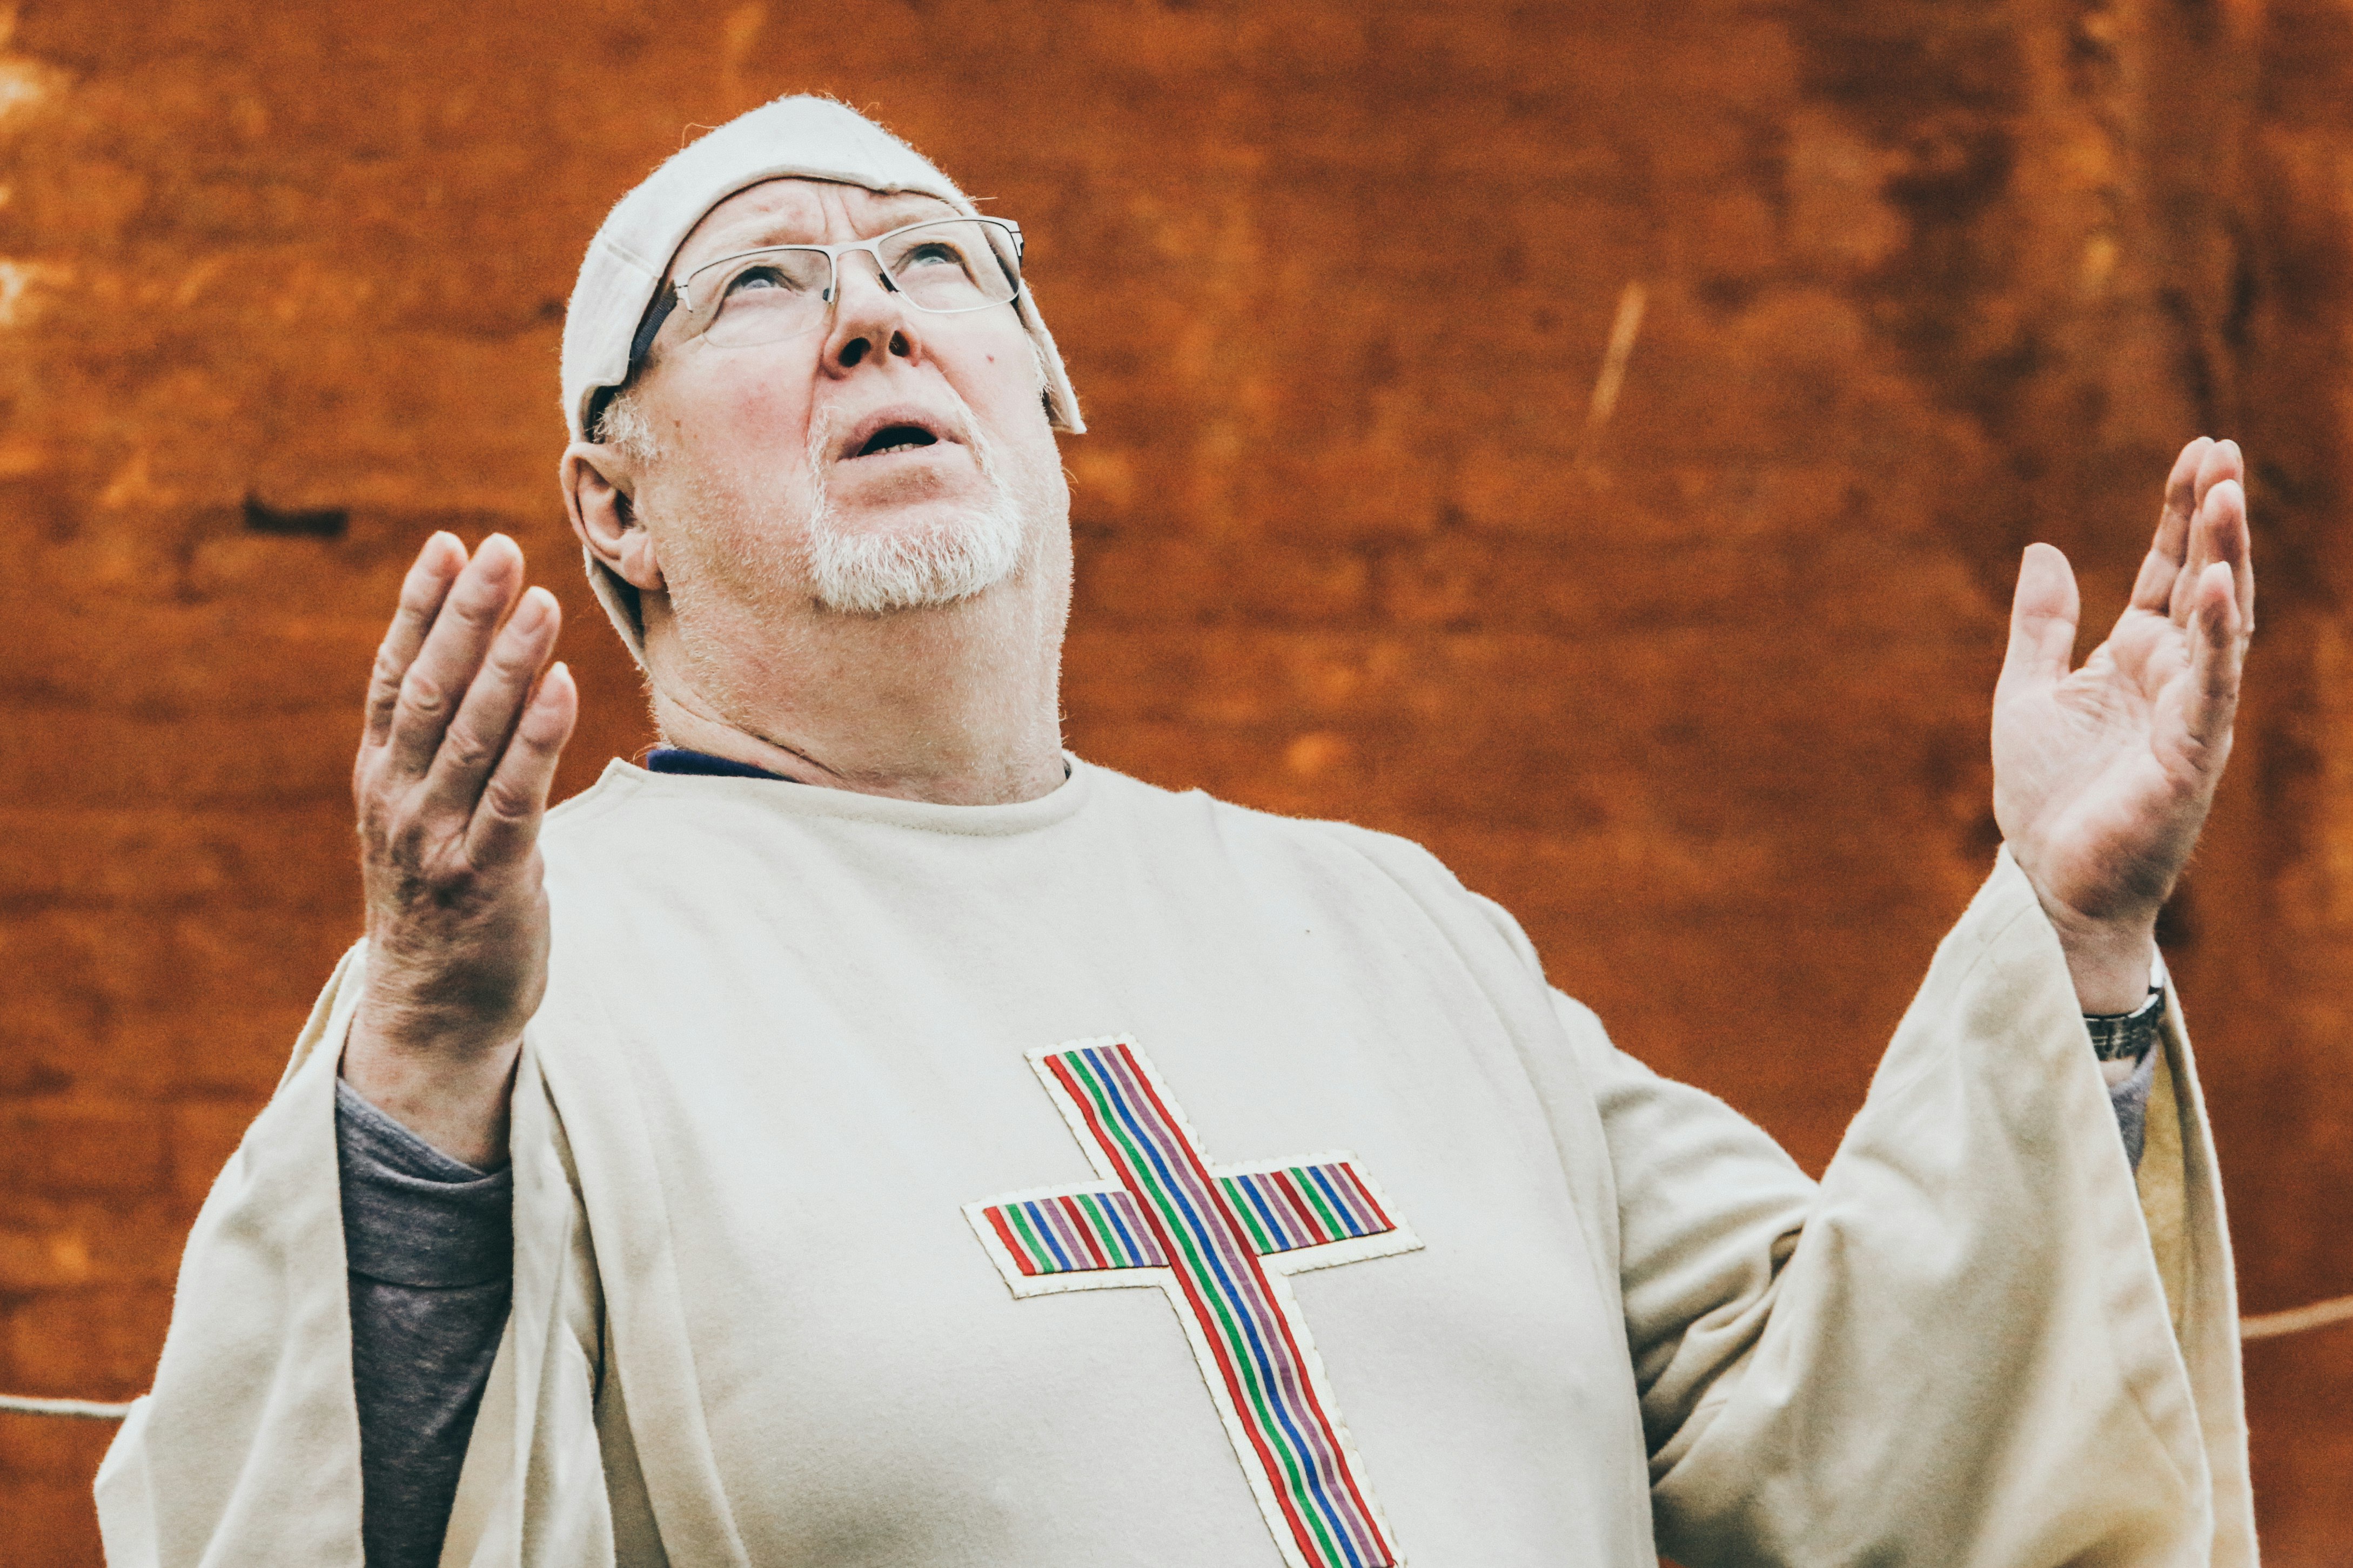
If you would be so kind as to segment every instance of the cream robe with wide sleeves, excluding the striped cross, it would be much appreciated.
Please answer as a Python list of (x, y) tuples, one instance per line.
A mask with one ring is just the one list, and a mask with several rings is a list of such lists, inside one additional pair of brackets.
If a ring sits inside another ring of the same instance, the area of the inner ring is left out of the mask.
[[(1341, 1150), (1419, 1241), (1285, 1281), (1417, 1568), (2254, 1563), (2188, 1039), (2137, 1192), (2007, 853), (1817, 1187), (1384, 835), (1082, 762), (1014, 806), (614, 764), (544, 851), (513, 1316), (445, 1566), (1299, 1561), (1176, 1286), (1016, 1295), (967, 1215), (1099, 1178), (1026, 1058), (1101, 1037), (1207, 1159)], [(362, 961), (188, 1239), (99, 1472), (115, 1568), (362, 1561)]]

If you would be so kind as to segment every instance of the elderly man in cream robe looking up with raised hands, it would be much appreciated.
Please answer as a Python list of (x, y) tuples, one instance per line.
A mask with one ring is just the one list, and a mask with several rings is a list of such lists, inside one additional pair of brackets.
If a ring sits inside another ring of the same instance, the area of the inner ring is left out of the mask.
[(108, 1556), (2252, 1563), (2151, 943), (2238, 451), (2080, 670), (2028, 550), (2007, 846), (1817, 1185), (1412, 844), (1061, 750), (1080, 418), (1019, 256), (816, 99), (607, 219), (562, 489), (666, 745), (544, 818), (555, 599), (426, 543), (367, 940), (188, 1241)]

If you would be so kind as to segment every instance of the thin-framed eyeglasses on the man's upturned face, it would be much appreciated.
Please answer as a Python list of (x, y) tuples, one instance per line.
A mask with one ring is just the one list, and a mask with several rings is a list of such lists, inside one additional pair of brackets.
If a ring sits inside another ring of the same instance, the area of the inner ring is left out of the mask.
[(833, 313), (842, 256), (866, 252), (882, 287), (929, 315), (1002, 306), (1021, 292), (1021, 226), (1007, 219), (932, 219), (849, 244), (774, 244), (720, 256), (664, 289), (638, 327), (628, 360), (654, 346), (673, 310), (687, 339), (755, 348), (814, 331)]

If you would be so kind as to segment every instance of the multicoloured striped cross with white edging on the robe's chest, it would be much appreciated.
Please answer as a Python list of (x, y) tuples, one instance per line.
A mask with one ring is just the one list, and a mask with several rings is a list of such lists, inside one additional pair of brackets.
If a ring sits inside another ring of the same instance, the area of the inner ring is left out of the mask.
[(1028, 1053), (1104, 1180), (965, 1218), (1014, 1295), (1158, 1286), (1292, 1568), (1395, 1568), (1289, 1274), (1421, 1246), (1348, 1154), (1212, 1166), (1132, 1039)]

